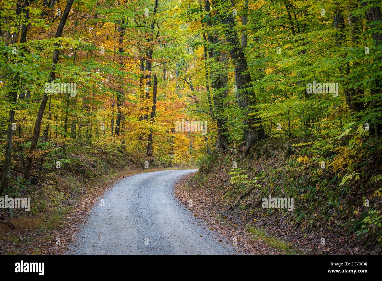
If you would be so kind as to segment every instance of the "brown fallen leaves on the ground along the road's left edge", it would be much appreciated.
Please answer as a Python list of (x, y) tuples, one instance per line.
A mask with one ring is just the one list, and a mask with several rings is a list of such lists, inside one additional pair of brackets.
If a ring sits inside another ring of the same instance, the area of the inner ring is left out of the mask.
[(85, 191), (78, 201), (71, 200), (73, 205), (68, 213), (63, 215), (58, 225), (45, 227), (48, 221), (43, 213), (35, 216), (15, 216), (0, 213), (0, 254), (65, 254), (75, 234), (86, 223), (89, 211), (99, 201), (105, 191), (125, 176), (142, 173), (135, 168), (117, 173), (113, 178), (98, 178), (82, 186)]

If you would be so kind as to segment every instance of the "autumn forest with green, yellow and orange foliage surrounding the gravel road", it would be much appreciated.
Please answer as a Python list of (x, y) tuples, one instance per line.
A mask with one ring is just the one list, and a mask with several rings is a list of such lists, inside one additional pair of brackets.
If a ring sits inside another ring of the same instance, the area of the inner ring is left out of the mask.
[(379, 0), (0, 7), (0, 196), (31, 199), (28, 212), (0, 201), (0, 254), (60, 251), (104, 181), (189, 167), (176, 196), (245, 217), (246, 233), (381, 253)]

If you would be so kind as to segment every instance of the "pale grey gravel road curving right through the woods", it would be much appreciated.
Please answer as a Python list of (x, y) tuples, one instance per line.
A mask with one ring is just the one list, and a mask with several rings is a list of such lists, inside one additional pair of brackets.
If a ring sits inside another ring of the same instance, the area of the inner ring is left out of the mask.
[(195, 171), (155, 171), (122, 179), (105, 193), (104, 207), (101, 199), (94, 206), (67, 254), (235, 254), (225, 237), (173, 195), (175, 182)]

